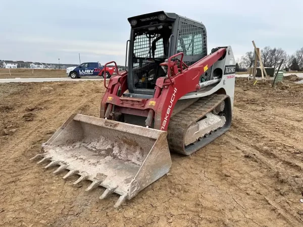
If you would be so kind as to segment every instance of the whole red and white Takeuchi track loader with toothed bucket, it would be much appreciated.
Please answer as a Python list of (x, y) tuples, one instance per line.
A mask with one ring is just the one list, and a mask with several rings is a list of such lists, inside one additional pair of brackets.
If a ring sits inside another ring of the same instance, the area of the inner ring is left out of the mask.
[(231, 47), (208, 54), (202, 23), (163, 11), (128, 21), (127, 71), (104, 80), (100, 117), (72, 115), (32, 158), (106, 188), (100, 199), (119, 194), (115, 207), (169, 172), (170, 151), (190, 155), (230, 128), (235, 84)]

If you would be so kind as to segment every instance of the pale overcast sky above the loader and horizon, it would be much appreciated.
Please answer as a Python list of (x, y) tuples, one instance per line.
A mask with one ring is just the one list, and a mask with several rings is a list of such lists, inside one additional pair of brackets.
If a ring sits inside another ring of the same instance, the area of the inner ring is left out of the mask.
[(303, 47), (302, 0), (1, 2), (1, 60), (78, 64), (80, 52), (81, 62), (124, 65), (127, 18), (161, 10), (203, 22), (208, 50), (231, 45), (236, 59), (253, 50), (252, 40), (290, 54)]

